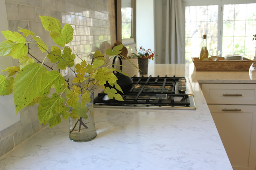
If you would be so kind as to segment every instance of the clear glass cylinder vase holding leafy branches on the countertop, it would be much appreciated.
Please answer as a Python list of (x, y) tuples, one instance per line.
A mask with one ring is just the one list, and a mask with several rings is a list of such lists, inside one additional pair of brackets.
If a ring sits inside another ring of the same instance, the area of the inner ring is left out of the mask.
[(72, 118), (69, 117), (69, 138), (75, 142), (86, 142), (93, 140), (97, 136), (95, 123), (94, 123), (94, 111), (93, 111), (93, 100), (94, 91), (90, 93), (91, 101), (86, 103), (88, 112), (86, 117)]

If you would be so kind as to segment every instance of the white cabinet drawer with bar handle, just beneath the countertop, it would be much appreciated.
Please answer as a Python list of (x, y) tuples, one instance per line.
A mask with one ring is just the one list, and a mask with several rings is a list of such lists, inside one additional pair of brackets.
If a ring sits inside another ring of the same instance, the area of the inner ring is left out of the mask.
[(256, 84), (203, 83), (202, 92), (208, 104), (256, 104)]

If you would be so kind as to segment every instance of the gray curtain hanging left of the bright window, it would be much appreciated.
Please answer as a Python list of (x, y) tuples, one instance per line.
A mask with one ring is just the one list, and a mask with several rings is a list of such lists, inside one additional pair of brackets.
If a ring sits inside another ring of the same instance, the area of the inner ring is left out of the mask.
[(185, 63), (182, 0), (154, 0), (156, 63)]

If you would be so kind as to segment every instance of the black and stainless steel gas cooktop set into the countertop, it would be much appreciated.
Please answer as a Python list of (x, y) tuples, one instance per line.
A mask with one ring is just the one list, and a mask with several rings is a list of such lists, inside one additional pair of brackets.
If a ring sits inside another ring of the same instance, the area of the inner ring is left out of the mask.
[(94, 99), (94, 107), (196, 109), (190, 83), (185, 77), (134, 76), (132, 81), (132, 89), (121, 94), (124, 101), (109, 99), (105, 93), (99, 93)]

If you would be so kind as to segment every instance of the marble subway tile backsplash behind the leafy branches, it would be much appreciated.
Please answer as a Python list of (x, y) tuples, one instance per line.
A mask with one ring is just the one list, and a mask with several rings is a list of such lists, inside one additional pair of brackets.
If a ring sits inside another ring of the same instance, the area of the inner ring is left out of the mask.
[[(116, 42), (116, 23), (114, 0), (5, 0), (9, 30), (18, 32), (19, 28), (31, 30), (48, 45), (56, 45), (49, 32), (42, 27), (41, 16), (52, 16), (74, 29), (71, 49), (86, 61), (92, 52), (111, 48)], [(30, 41), (30, 38), (27, 38)], [(30, 45), (31, 54), (40, 61), (45, 57), (36, 45)], [(75, 63), (80, 62), (76, 60)], [(45, 61), (49, 63), (49, 61)], [(18, 60), (14, 60), (18, 66)], [(37, 107), (27, 107), (20, 111), (20, 121), (0, 131), (0, 156), (44, 128), (37, 118)]]

